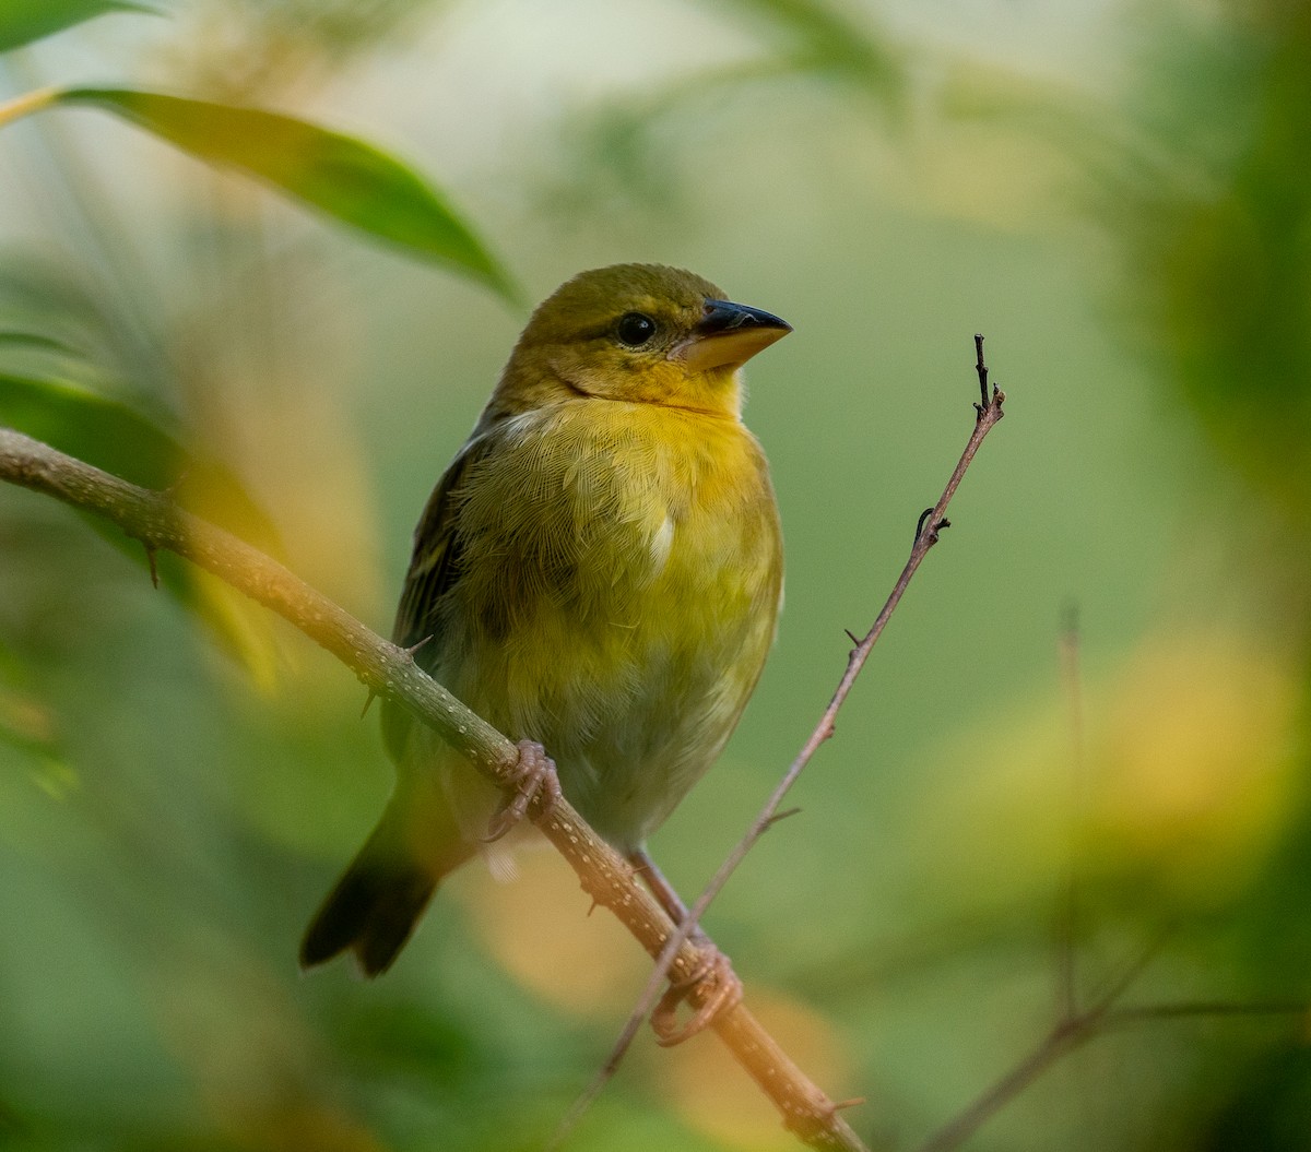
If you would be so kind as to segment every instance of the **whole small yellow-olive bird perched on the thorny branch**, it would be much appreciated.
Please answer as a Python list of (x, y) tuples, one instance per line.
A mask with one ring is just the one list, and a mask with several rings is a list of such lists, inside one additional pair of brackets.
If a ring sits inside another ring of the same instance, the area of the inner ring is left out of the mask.
[[(429, 499), (397, 611), (393, 640), (426, 641), (420, 664), (526, 761), (544, 746), (673, 915), (646, 837), (724, 748), (775, 634), (783, 541), (738, 370), (791, 330), (679, 269), (574, 277)], [(402, 709), (383, 729), (396, 790), (305, 967), (349, 949), (385, 971), (446, 873), (505, 856), (499, 793)]]

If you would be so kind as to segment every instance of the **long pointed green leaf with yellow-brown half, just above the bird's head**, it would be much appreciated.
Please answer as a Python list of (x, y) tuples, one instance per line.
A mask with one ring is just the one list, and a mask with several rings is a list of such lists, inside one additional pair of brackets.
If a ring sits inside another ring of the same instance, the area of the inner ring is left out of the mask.
[(60, 104), (105, 109), (177, 147), (267, 181), (361, 231), (522, 295), (446, 198), (385, 152), (279, 113), (125, 88), (69, 88)]

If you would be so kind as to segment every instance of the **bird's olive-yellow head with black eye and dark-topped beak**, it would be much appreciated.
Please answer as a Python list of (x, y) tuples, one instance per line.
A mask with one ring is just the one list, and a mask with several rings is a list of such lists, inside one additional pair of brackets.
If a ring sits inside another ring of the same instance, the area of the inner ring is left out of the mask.
[(591, 396), (735, 417), (738, 368), (792, 328), (682, 269), (579, 273), (543, 301), (501, 379), (506, 408)]

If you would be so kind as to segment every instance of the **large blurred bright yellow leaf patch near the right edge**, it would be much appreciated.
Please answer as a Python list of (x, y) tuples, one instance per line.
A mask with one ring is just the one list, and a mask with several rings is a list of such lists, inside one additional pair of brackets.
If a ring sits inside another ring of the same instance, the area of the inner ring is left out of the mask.
[(931, 830), (924, 869), (971, 910), (1047, 898), (1075, 851), (1091, 877), (1150, 875), (1186, 900), (1231, 894), (1294, 807), (1303, 718), (1291, 659), (1256, 637), (1167, 633), (1083, 697), (1078, 768), (1054, 684), (937, 751), (961, 767), (911, 822)]

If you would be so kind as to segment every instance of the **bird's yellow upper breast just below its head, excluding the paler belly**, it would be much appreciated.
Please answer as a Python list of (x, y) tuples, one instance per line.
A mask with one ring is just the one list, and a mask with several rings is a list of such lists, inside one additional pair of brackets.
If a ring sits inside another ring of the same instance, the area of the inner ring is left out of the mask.
[(654, 626), (754, 598), (777, 562), (763, 455), (718, 417), (611, 401), (515, 417), (459, 498), (461, 592), (493, 632), (549, 611)]

